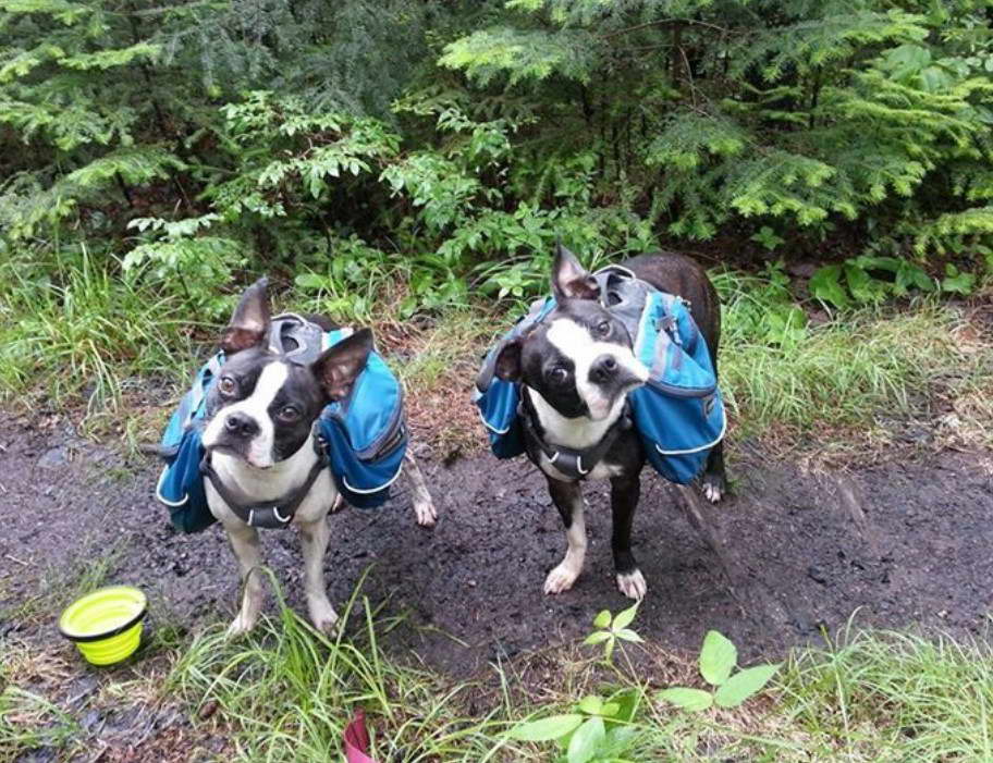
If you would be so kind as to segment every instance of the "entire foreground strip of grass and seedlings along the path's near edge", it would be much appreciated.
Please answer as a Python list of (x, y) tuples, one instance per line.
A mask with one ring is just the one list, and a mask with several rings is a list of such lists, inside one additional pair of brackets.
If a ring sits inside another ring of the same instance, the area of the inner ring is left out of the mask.
[[(176, 706), (193, 721), (183, 754), (209, 758), (217, 749), (209, 752), (197, 740), (220, 737), (225, 760), (244, 761), (334, 758), (358, 707), (367, 715), (373, 756), (412, 763), (868, 763), (988, 760), (993, 752), (993, 655), (983, 642), (850, 628), (838, 643), (794, 651), (777, 670), (746, 667), (743, 676), (761, 672), (771, 681), (753, 681), (726, 709), (682, 701), (687, 691), (707, 694), (707, 681), (727, 680), (736, 656), (720, 635), (708, 636), (698, 659), (627, 639), (609, 660), (599, 647), (557, 648), (458, 681), (413, 655), (389, 656), (383, 642), (396, 623), (379, 617), (365, 598), (354, 598), (345, 616), (347, 635), (331, 638), (285, 606), (240, 641), (225, 640), (219, 624), (159, 650), (154, 660), (146, 652), (144, 667), (105, 675), (89, 701), (121, 712)], [(637, 628), (637, 620), (626, 627)], [(718, 641), (709, 643), (712, 636)], [(172, 656), (163, 674), (167, 653)], [(532, 659), (544, 678), (528, 669)], [(66, 669), (58, 659), (7, 644), (0, 674), (7, 681), (0, 691), (4, 760), (32, 750), (66, 756), (82, 750), (86, 707), (69, 707), (39, 688), (58, 693), (56, 677)], [(38, 670), (48, 675), (33, 673)], [(685, 688), (673, 693), (676, 686)], [(608, 734), (574, 741), (579, 723)], [(566, 733), (556, 742), (560, 729)]]

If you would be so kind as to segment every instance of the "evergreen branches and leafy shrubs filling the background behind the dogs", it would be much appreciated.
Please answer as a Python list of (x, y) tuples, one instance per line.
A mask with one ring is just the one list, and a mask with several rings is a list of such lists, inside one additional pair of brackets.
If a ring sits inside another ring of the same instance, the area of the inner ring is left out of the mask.
[(0, 251), (86, 239), (206, 318), (245, 269), (400, 254), (410, 310), (524, 297), (556, 237), (968, 267), (991, 5), (0, 0)]

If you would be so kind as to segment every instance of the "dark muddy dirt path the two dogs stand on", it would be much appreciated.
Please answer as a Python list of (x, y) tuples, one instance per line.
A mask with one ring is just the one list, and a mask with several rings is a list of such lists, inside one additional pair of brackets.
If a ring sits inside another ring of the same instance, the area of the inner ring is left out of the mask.
[[(152, 625), (196, 628), (233, 612), (234, 565), (221, 530), (176, 534), (151, 497), (154, 464), (126, 465), (111, 450), (9, 415), (0, 415), (0, 611), (117, 550), (110, 577), (149, 592)], [(860, 625), (984, 628), (993, 606), (990, 454), (942, 453), (814, 477), (732, 453), (731, 468), (736, 497), (716, 508), (694, 502), (709, 528), (702, 534), (677, 489), (646, 480), (635, 522), (649, 583), (642, 635), (696, 650), (718, 628), (747, 659), (780, 654), (821, 627), (836, 632), (856, 608)], [(464, 675), (584, 635), (599, 610), (626, 605), (611, 575), (602, 489), (588, 491), (586, 573), (572, 592), (550, 598), (541, 582), (564, 539), (535, 470), (485, 456), (449, 468), (429, 460), (426, 472), (441, 515), (433, 531), (414, 525), (405, 495), (330, 520), (332, 601), (344, 602), (375, 563), (366, 593), (389, 599), (388, 613), (410, 613), (390, 649), (415, 649), (428, 664)], [(263, 545), (303, 611), (295, 533), (268, 532)], [(0, 623), (3, 633), (59, 640), (52, 620), (10, 619)]]

